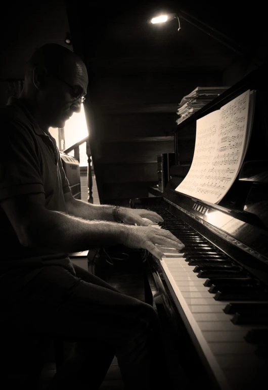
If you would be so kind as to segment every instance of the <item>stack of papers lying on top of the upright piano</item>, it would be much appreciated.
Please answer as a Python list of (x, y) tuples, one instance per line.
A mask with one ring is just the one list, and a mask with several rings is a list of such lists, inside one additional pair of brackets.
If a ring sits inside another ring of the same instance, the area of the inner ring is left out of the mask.
[(228, 90), (228, 88), (228, 86), (197, 86), (197, 88), (189, 95), (186, 95), (178, 105), (177, 114), (179, 117), (176, 120), (177, 124), (181, 123), (188, 118), (188, 116), (215, 99), (222, 94), (222, 92)]

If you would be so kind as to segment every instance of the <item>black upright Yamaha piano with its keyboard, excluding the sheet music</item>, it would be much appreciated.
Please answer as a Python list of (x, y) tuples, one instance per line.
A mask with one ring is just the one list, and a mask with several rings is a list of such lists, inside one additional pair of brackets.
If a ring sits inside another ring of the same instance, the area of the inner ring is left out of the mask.
[[(167, 251), (160, 261), (148, 253), (145, 262), (146, 301), (159, 313), (177, 389), (268, 386), (266, 88), (266, 69), (254, 70), (178, 125), (176, 165), (163, 196), (130, 200), (131, 207), (158, 212), (164, 220), (158, 227), (185, 244), (180, 257)], [(213, 205), (175, 191), (189, 170), (180, 164), (178, 140), (248, 89), (256, 91), (251, 139), (226, 196)]]

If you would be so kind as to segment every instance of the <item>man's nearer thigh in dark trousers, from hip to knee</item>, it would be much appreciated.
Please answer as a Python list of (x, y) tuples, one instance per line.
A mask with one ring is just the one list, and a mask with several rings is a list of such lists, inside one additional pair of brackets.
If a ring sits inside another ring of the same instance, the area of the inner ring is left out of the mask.
[[(82, 341), (96, 337), (118, 344), (155, 316), (144, 302), (111, 288), (76, 267), (74, 277), (61, 267), (40, 272), (13, 301), (12, 326), (25, 334)], [(83, 275), (82, 275), (83, 274)]]

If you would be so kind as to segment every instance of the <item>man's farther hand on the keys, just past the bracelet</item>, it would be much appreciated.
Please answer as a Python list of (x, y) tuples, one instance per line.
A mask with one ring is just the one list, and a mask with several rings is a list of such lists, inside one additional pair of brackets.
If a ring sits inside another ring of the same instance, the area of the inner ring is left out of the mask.
[(163, 222), (163, 218), (156, 212), (138, 208), (120, 207), (118, 209), (118, 216), (125, 224), (149, 226), (150, 222), (143, 220), (143, 218), (148, 218), (148, 220), (156, 223)]

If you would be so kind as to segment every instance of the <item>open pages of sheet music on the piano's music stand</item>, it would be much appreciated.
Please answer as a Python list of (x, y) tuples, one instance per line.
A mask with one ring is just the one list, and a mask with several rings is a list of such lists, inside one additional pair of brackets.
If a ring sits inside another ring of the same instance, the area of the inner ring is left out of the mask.
[(210, 203), (226, 195), (244, 157), (249, 94), (248, 90), (197, 120), (193, 162), (176, 191)]

